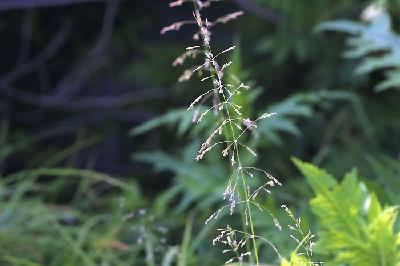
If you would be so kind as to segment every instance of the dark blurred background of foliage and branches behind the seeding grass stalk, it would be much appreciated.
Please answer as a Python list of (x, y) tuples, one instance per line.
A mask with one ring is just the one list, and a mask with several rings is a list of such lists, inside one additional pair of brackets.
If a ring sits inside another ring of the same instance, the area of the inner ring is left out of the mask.
[[(383, 204), (399, 203), (398, 89), (377, 92), (387, 68), (358, 74), (363, 58), (342, 57), (349, 35), (316, 30), (335, 19), (367, 25), (369, 4), (232, 0), (205, 11), (245, 12), (216, 26), (212, 42), (237, 47), (229, 71), (252, 85), (249, 117), (278, 113), (251, 140), (257, 160), (246, 160), (285, 184), (263, 204), (285, 203), (311, 228), (313, 193), (292, 156), (338, 179), (357, 167)], [(386, 6), (397, 31), (400, 6)], [(195, 28), (160, 34), (191, 12), (166, 0), (0, 1), (1, 265), (226, 261), (211, 239), (235, 217), (204, 221), (222, 204), (229, 167), (217, 154), (195, 162), (209, 124), (192, 127), (185, 109), (204, 88), (177, 81), (190, 62), (172, 66), (196, 44)], [(296, 246), (268, 217), (256, 221), (283, 254)]]

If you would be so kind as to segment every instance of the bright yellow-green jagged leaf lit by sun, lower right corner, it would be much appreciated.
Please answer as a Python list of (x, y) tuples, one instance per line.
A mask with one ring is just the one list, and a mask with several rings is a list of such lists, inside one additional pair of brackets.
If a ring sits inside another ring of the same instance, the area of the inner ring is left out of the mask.
[(338, 183), (312, 164), (293, 161), (316, 195), (310, 203), (320, 224), (317, 251), (333, 254), (335, 264), (399, 265), (397, 207), (382, 208), (375, 194), (359, 182), (355, 169)]

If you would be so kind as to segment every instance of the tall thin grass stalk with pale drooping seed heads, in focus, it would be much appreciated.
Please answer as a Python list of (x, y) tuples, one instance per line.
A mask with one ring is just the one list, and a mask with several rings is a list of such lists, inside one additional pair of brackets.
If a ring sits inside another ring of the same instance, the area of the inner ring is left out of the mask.
[[(232, 52), (235, 46), (230, 46), (221, 52), (215, 52), (211, 41), (212, 28), (214, 26), (234, 20), (241, 16), (243, 12), (230, 13), (210, 21), (202, 15), (202, 12), (214, 1), (181, 0), (170, 3), (170, 6), (180, 6), (184, 2), (193, 3), (194, 20), (173, 23), (163, 28), (161, 33), (180, 30), (182, 26), (187, 24), (195, 24), (197, 26), (193, 36), (197, 44), (187, 47), (186, 52), (179, 56), (173, 65), (183, 64), (190, 57), (198, 55), (203, 57), (202, 64), (195, 65), (184, 71), (179, 81), (187, 81), (193, 75), (198, 74), (202, 84), (204, 84), (204, 92), (197, 96), (187, 108), (193, 112), (192, 122), (194, 124), (200, 123), (203, 118), (209, 115), (214, 115), (218, 118), (217, 124), (210, 130), (211, 133), (200, 145), (195, 159), (201, 161), (211, 151), (220, 152), (221, 156), (226, 158), (226, 162), (231, 169), (231, 175), (227, 178), (227, 185), (222, 193), (222, 198), (226, 201), (226, 204), (212, 213), (205, 223), (207, 224), (212, 219), (217, 219), (221, 212), (228, 212), (233, 215), (237, 210), (242, 217), (243, 223), (241, 229), (233, 228), (230, 225), (226, 225), (226, 228), (218, 229), (219, 234), (212, 242), (214, 245), (216, 243), (222, 244), (224, 246), (223, 253), (231, 254), (226, 264), (234, 261), (242, 263), (245, 260), (249, 260), (256, 265), (260, 265), (260, 244), (269, 246), (270, 250), (281, 260), (283, 258), (278, 248), (267, 237), (257, 234), (253, 213), (257, 210), (270, 215), (277, 230), (282, 230), (282, 226), (275, 215), (257, 202), (260, 192), (271, 193), (273, 187), (282, 186), (282, 184), (267, 171), (251, 164), (246, 164), (242, 160), (244, 153), (249, 153), (253, 157), (258, 156), (257, 152), (248, 144), (250, 135), (257, 129), (259, 121), (268, 119), (276, 115), (276, 113), (263, 113), (254, 119), (243, 115), (243, 106), (237, 103), (235, 98), (239, 94), (245, 94), (250, 90), (250, 86), (242, 83), (237, 77), (226, 78), (226, 69), (234, 62), (223, 62), (223, 58), (226, 57), (225, 54)], [(255, 180), (257, 177), (261, 177), (263, 180), (261, 186), (255, 186), (258, 183)], [(310, 233), (304, 234), (300, 226), (301, 220), (295, 218), (286, 206), (283, 205), (282, 207), (293, 218), (295, 225), (290, 226), (290, 228), (302, 236), (301, 239), (292, 236), (299, 244), (296, 251), (300, 247), (304, 248), (307, 258), (310, 259), (312, 253), (309, 243), (313, 235)]]

